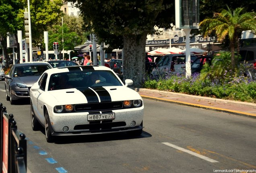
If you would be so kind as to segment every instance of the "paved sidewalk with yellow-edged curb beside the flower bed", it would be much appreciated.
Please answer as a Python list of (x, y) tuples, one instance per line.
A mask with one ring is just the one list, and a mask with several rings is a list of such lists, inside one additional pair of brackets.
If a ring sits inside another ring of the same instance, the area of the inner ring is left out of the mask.
[(200, 107), (204, 109), (212, 109), (216, 111), (256, 118), (256, 103), (229, 101), (151, 89), (135, 88), (134, 90), (137, 91), (142, 98)]

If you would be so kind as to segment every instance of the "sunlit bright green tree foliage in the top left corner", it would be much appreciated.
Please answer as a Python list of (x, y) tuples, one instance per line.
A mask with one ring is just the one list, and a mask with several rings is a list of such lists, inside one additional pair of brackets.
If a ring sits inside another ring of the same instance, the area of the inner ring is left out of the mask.
[[(0, 4), (0, 41), (6, 52), (7, 32), (14, 34), (16, 40), (18, 40), (17, 30), (22, 30), (25, 35), (24, 11), (27, 8), (27, 0), (0, 0)], [(34, 46), (42, 43), (43, 31), (62, 15), (61, 6), (62, 0), (30, 0), (31, 34)], [(17, 46), (19, 51), (19, 44)]]

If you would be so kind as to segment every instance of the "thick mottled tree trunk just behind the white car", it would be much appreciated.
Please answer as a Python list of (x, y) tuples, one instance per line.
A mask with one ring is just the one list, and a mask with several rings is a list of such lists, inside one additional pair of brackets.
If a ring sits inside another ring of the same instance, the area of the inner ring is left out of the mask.
[(133, 80), (133, 87), (142, 87), (145, 77), (147, 34), (124, 36), (123, 77)]

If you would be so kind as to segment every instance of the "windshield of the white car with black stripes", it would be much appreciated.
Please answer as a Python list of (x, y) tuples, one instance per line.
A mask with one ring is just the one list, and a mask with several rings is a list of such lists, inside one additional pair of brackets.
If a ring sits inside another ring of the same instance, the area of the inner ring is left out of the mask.
[(84, 87), (122, 86), (122, 83), (109, 70), (70, 71), (50, 76), (49, 90)]

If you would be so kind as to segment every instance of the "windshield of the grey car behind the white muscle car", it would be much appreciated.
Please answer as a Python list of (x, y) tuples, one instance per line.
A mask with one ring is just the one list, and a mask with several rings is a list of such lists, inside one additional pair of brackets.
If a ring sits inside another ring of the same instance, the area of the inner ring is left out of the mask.
[(46, 64), (17, 66), (14, 70), (13, 76), (14, 77), (41, 76), (41, 74), (49, 68), (50, 66)]

